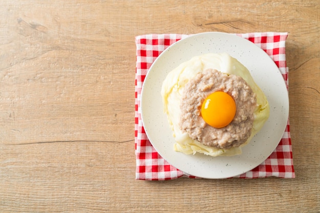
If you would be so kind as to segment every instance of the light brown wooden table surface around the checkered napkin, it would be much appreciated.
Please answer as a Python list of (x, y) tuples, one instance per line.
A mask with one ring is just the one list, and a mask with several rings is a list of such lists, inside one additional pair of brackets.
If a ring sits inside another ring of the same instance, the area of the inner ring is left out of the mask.
[[(320, 212), (318, 0), (0, 2), (1, 212)], [(136, 35), (288, 32), (296, 178), (135, 180)]]

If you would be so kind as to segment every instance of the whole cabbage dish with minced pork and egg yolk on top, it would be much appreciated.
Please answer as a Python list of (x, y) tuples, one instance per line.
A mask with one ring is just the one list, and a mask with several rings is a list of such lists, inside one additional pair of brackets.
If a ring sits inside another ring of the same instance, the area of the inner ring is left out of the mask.
[(247, 68), (225, 53), (180, 64), (161, 94), (174, 150), (185, 154), (241, 154), (269, 117), (267, 98)]

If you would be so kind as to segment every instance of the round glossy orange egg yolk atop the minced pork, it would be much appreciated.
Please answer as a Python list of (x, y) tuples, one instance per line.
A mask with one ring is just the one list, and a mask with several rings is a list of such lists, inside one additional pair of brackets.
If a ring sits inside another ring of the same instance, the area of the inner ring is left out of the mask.
[(217, 91), (204, 99), (201, 116), (210, 126), (222, 128), (231, 123), (236, 115), (236, 102), (227, 93)]

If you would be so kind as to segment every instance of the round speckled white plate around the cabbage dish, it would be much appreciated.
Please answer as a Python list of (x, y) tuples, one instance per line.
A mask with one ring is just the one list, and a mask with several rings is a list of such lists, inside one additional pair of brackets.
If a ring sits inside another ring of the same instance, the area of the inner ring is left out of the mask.
[[(173, 150), (175, 143), (163, 112), (161, 86), (167, 74), (193, 56), (227, 52), (248, 68), (267, 96), (270, 117), (241, 155), (212, 157), (186, 155)], [(141, 94), (142, 121), (157, 152), (172, 166), (202, 178), (228, 178), (260, 165), (279, 144), (289, 115), (289, 98), (283, 77), (272, 59), (254, 43), (226, 33), (200, 33), (174, 43), (152, 64)]]

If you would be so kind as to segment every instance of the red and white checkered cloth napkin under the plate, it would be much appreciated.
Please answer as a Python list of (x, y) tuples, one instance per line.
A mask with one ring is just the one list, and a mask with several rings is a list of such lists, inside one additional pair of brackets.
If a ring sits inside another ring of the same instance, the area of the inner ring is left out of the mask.
[[(287, 33), (248, 33), (236, 34), (261, 47), (279, 67), (288, 88), (288, 67), (286, 66), (285, 41)], [(187, 37), (179, 34), (150, 34), (135, 37), (136, 71), (135, 71), (135, 154), (136, 179), (168, 180), (181, 176), (196, 178), (171, 166), (153, 148), (147, 138), (141, 120), (141, 89), (145, 76), (154, 60), (174, 42)], [(271, 155), (258, 167), (238, 178), (258, 177), (294, 178), (289, 121), (284, 135)]]

